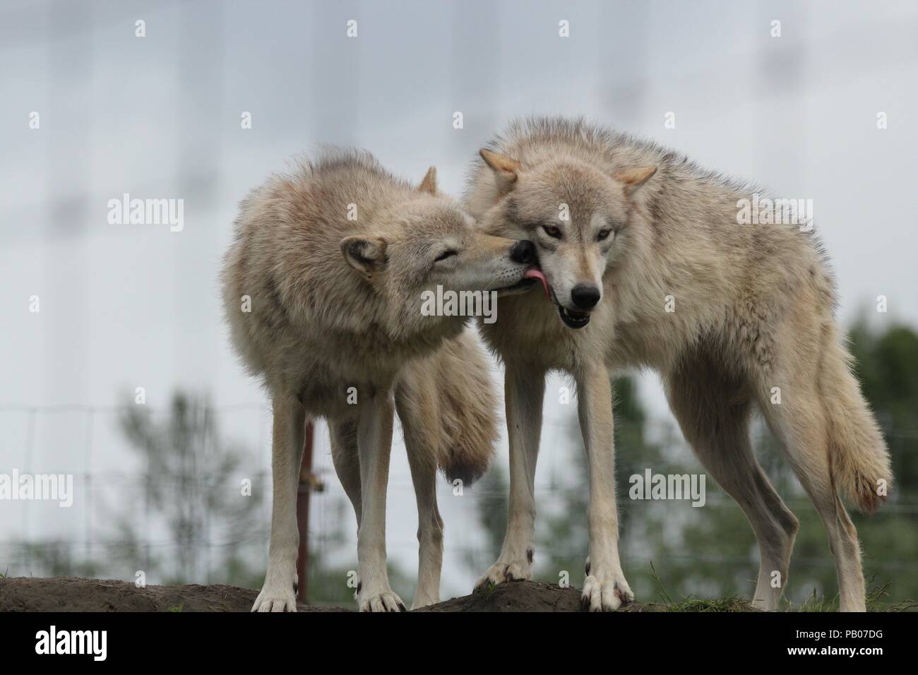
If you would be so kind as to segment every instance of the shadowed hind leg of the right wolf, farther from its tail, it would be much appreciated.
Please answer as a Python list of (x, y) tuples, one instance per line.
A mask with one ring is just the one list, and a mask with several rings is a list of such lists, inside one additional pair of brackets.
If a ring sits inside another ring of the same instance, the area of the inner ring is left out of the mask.
[(666, 377), (666, 395), (695, 455), (739, 504), (756, 533), (760, 560), (754, 606), (778, 609), (800, 523), (756, 461), (747, 390), (719, 373), (711, 360), (699, 357)]

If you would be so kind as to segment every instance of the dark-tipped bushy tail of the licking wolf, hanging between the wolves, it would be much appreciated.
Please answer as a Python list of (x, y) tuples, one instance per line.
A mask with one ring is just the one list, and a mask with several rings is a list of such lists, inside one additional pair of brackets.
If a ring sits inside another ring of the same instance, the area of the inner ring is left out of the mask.
[(451, 481), (467, 486), (481, 478), (498, 439), (494, 389), (472, 332), (409, 364), (396, 389), (409, 453), (423, 452), (420, 459), (436, 461)]

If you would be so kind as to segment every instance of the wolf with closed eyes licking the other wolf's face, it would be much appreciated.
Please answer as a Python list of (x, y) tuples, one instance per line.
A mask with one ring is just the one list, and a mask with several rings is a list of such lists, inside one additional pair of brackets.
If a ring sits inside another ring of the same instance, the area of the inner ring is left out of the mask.
[(268, 568), (252, 611), (296, 611), (297, 472), (307, 417), (324, 417), (357, 518), (361, 611), (403, 611), (386, 575), (386, 481), (397, 411), (419, 511), (414, 607), (438, 602), (436, 468), (466, 483), (497, 436), (485, 355), (463, 316), (425, 316), (431, 287), (511, 293), (532, 244), (487, 235), (436, 188), (372, 155), (327, 150), (252, 190), (221, 273), (231, 342), (272, 399)]

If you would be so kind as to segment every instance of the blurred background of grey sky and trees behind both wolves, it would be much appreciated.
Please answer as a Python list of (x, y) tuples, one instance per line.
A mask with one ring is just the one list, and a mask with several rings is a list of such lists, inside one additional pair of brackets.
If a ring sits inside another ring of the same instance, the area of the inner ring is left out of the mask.
[[(270, 406), (229, 351), (217, 286), (239, 200), (319, 142), (415, 181), (435, 163), (459, 196), (509, 118), (558, 113), (812, 199), (897, 479), (878, 514), (856, 516), (865, 572), (880, 603), (918, 598), (914, 3), (6, 0), (0, 59), (0, 473), (74, 486), (70, 508), (0, 501), (0, 573), (259, 588)], [(184, 229), (109, 224), (124, 193), (184, 199)], [(535, 573), (579, 587), (586, 463), (566, 386), (553, 378), (545, 397)], [(755, 537), (712, 480), (703, 508), (628, 499), (645, 468), (701, 467), (654, 375), (623, 373), (617, 394), (621, 554), (638, 599), (750, 597)], [(801, 522), (786, 597), (831, 602), (822, 523), (761, 424), (756, 448)], [(497, 557), (507, 462), (502, 441), (461, 497), (440, 478), (443, 598)], [(323, 422), (314, 466), (309, 599), (351, 606), (356, 524)], [(398, 433), (388, 504), (408, 601), (417, 511)]]

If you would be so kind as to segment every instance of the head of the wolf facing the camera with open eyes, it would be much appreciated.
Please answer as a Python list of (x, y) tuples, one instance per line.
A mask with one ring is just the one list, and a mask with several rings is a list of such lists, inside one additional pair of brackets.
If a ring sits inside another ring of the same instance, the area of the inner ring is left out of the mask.
[(481, 157), (494, 180), (481, 227), (532, 241), (561, 320), (583, 328), (602, 300), (606, 269), (627, 249), (629, 214), (656, 167), (606, 174), (573, 154), (532, 167), (487, 149)]

